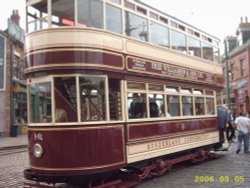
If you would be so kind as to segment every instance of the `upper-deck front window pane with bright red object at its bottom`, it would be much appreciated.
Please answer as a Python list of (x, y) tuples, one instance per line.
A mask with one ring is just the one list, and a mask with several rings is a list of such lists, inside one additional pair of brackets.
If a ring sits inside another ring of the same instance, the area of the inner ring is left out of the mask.
[[(53, 26), (74, 26), (74, 1), (72, 0), (52, 0)], [(57, 22), (55, 21), (57, 19)]]

